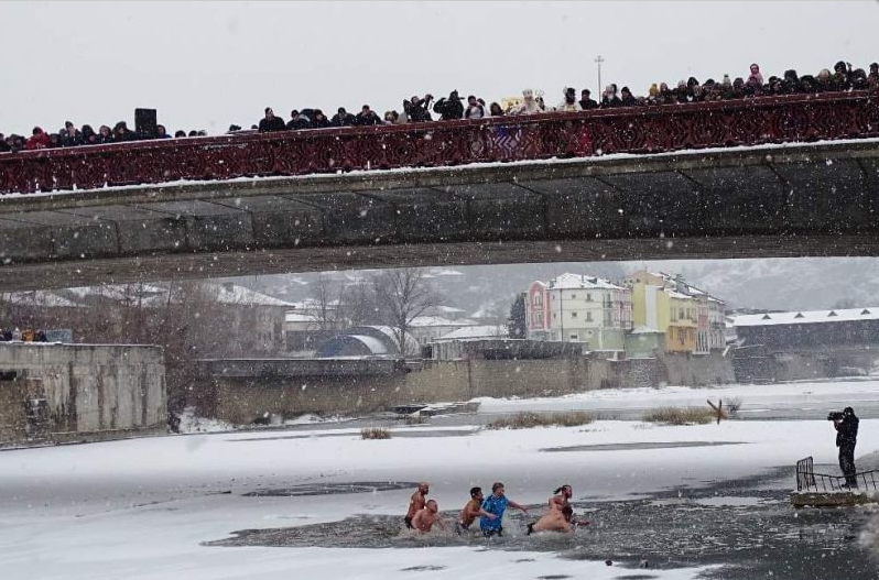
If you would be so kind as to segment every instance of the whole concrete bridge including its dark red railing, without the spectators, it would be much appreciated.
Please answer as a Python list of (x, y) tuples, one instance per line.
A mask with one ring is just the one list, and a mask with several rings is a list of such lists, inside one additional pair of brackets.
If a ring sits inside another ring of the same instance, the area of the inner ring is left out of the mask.
[(855, 91), (2, 155), (0, 291), (879, 255), (878, 136)]

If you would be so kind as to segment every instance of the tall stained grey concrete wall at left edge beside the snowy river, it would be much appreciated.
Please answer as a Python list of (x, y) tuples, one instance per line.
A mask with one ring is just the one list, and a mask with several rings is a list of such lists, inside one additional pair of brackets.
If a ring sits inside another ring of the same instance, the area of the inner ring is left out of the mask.
[(7, 342), (0, 343), (0, 371), (40, 382), (51, 438), (165, 427), (160, 347)]

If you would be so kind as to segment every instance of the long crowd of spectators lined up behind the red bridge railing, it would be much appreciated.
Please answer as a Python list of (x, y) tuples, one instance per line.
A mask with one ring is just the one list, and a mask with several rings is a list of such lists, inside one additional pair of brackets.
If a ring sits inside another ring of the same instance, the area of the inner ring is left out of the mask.
[[(800, 76), (796, 70), (789, 69), (780, 77), (764, 78), (760, 66), (755, 63), (748, 68), (747, 76), (730, 79), (729, 75), (724, 75), (720, 80), (708, 78), (704, 83), (695, 77), (690, 77), (686, 80), (680, 80), (674, 87), (668, 83), (653, 83), (647, 95), (642, 96), (634, 96), (629, 87), (618, 88), (616, 84), (610, 84), (605, 87), (598, 100), (592, 98), (589, 89), (580, 90), (579, 98), (577, 98), (577, 90), (567, 87), (563, 90), (563, 99), (554, 107), (544, 102), (541, 91), (532, 89), (523, 90), (522, 98), (509, 101), (507, 107), (502, 107), (499, 102), (487, 103), (485, 99), (475, 95), (465, 99), (459, 96), (457, 90), (453, 90), (448, 97), (438, 100), (434, 100), (433, 95), (430, 94), (423, 97), (413, 96), (402, 102), (402, 111), (386, 111), (383, 116), (379, 116), (369, 105), (363, 105), (356, 114), (339, 107), (332, 117), (327, 117), (322, 109), (303, 108), (291, 110), (290, 118), (285, 121), (283, 117), (276, 116), (271, 107), (267, 107), (263, 118), (258, 124), (251, 125), (249, 131), (271, 132), (332, 127), (404, 124), (434, 120), (484, 119), (556, 111), (710, 102), (848, 90), (879, 90), (879, 64), (870, 64), (869, 72), (867, 72), (862, 68), (854, 68), (850, 63), (839, 61), (834, 65), (833, 70), (823, 68), (816, 75)], [(437, 118), (434, 119), (432, 113), (435, 113)], [(242, 129), (232, 124), (228, 132), (242, 132)], [(245, 132), (248, 131), (245, 130)], [(181, 130), (176, 131), (173, 138), (205, 135), (207, 135), (205, 131), (193, 130), (187, 133)], [(119, 121), (112, 129), (109, 125), (100, 125), (98, 131), (95, 131), (89, 124), (78, 129), (73, 122), (66, 121), (56, 133), (47, 133), (40, 127), (33, 128), (31, 136), (18, 134), (4, 136), (0, 133), (0, 153), (99, 145), (141, 139), (172, 139), (172, 135), (161, 124), (156, 127), (154, 133), (142, 134), (130, 130), (124, 121)]]

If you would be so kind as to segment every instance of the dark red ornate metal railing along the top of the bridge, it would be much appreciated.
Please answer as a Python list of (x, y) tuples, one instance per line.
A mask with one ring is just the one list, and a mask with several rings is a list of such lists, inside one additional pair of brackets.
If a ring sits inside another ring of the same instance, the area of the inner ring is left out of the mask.
[(879, 136), (866, 91), (0, 155), (0, 194)]

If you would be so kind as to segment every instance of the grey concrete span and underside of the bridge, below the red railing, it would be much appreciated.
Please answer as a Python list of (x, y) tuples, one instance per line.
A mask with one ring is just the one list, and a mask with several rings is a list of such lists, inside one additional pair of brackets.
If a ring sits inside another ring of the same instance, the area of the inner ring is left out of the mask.
[(879, 255), (879, 144), (0, 196), (0, 291), (403, 265)]

